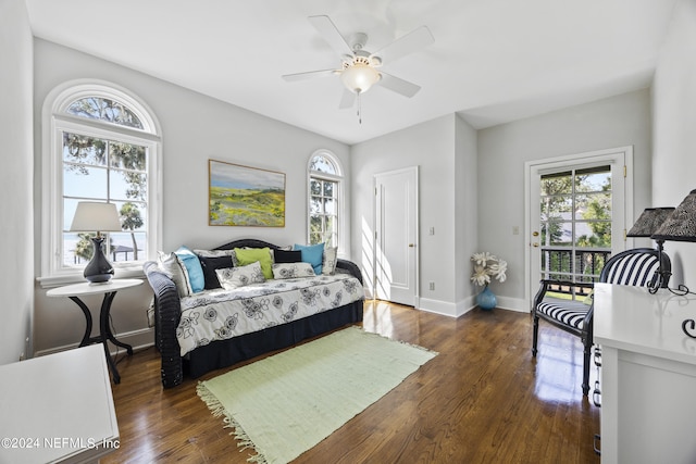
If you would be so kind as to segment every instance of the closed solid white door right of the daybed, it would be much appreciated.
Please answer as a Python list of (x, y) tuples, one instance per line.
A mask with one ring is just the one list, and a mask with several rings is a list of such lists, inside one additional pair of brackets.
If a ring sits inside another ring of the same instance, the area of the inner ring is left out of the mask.
[(374, 176), (374, 296), (418, 304), (418, 166)]

